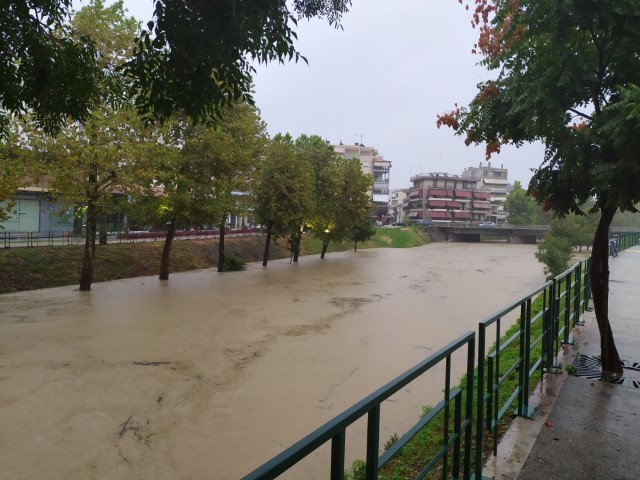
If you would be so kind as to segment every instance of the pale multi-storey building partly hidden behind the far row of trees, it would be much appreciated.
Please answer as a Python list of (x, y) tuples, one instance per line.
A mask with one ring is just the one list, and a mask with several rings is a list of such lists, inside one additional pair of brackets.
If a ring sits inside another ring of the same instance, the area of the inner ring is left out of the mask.
[(371, 175), (371, 188), (369, 190), (371, 201), (375, 208), (375, 216), (383, 223), (389, 216), (389, 173), (391, 162), (385, 160), (373, 147), (365, 147), (362, 143), (344, 145), (340, 142), (331, 145), (339, 155), (344, 158), (356, 158), (360, 161), (362, 172)]

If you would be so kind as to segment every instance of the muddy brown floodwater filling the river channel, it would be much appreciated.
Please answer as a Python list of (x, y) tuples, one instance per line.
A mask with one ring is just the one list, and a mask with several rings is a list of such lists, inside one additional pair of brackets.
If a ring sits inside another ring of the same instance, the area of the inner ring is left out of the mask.
[[(534, 248), (439, 243), (0, 295), (0, 478), (239, 478), (541, 284)], [(441, 395), (427, 378), (386, 402), (382, 441)], [(363, 432), (349, 430), (348, 462)], [(289, 478), (327, 478), (326, 450)]]

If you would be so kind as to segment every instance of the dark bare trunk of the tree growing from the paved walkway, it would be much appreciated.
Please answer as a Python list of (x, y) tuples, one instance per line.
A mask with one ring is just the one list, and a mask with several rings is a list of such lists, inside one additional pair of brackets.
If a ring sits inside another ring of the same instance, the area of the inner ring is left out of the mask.
[(622, 374), (620, 355), (609, 323), (609, 226), (615, 213), (614, 207), (605, 207), (601, 210), (591, 249), (591, 270), (589, 271), (593, 309), (600, 331), (603, 378)]

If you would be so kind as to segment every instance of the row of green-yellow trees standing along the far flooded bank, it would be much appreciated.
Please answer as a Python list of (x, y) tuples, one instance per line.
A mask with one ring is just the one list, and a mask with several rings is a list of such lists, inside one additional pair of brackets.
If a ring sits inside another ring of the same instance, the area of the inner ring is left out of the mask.
[[(131, 68), (138, 68), (132, 65), (143, 52), (150, 54), (151, 47), (132, 42), (140, 27), (126, 16), (121, 2), (105, 7), (93, 1), (71, 18), (68, 28), (69, 41), (87, 39), (87, 48), (95, 54), (88, 72), (96, 85), (85, 99), (87, 111), (51, 124), (35, 108), (3, 117), (0, 200), (11, 198), (25, 179), (46, 179), (48, 194), (85, 220), (81, 291), (91, 288), (98, 218), (110, 209), (127, 213), (138, 225), (166, 226), (160, 279), (169, 277), (176, 230), (203, 224), (219, 225), (222, 271), (229, 214), (251, 210), (254, 220), (266, 227), (264, 265), (272, 237), (290, 238), (297, 261), (303, 231), (323, 239), (324, 256), (330, 241), (348, 238), (354, 228), (369, 222), (370, 179), (358, 161), (338, 158), (316, 136), (269, 139), (242, 91), (229, 98), (229, 92), (223, 92), (224, 98), (212, 93), (217, 98), (211, 100), (212, 121), (194, 123), (194, 118), (204, 120), (204, 112), (180, 108), (177, 101), (171, 108), (155, 105), (162, 111), (153, 115), (163, 121), (150, 122), (152, 112), (145, 110), (150, 106), (135, 90), (142, 86), (130, 76)], [(242, 202), (234, 195), (238, 191), (255, 195)]]

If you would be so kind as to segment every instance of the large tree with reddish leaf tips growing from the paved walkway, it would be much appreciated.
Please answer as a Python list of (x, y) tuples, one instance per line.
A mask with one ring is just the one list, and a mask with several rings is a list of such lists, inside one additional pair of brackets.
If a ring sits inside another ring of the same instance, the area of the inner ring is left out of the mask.
[(438, 124), (467, 143), (540, 141), (546, 153), (529, 192), (557, 214), (595, 199), (591, 287), (603, 376), (622, 373), (609, 323), (608, 230), (640, 200), (640, 2), (476, 0), (475, 50), (496, 72), (468, 107)]

